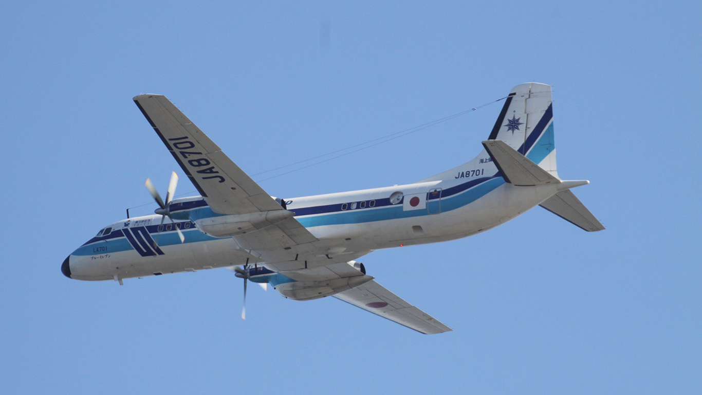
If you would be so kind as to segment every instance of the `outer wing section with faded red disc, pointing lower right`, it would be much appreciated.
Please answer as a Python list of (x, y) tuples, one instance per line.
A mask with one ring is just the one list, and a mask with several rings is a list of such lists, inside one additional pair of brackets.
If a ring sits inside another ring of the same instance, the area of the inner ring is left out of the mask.
[(375, 280), (340, 292), (334, 297), (425, 335), (452, 330), (424, 311), (405, 302)]

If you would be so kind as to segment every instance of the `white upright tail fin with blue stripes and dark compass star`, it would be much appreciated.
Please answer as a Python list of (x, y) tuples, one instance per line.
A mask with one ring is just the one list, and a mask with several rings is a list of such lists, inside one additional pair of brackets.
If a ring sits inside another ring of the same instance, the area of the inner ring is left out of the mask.
[(515, 86), (488, 140), (504, 141), (538, 167), (558, 177), (551, 86), (537, 82)]

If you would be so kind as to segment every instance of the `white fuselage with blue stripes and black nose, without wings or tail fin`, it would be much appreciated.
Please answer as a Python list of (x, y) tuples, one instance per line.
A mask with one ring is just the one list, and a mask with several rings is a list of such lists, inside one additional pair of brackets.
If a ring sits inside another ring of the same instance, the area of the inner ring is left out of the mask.
[[(494, 171), (491, 165), (487, 168)], [(329, 243), (330, 251), (360, 252), (360, 256), (474, 235), (526, 212), (557, 191), (555, 185), (512, 186), (494, 174), (296, 197), (286, 203), (300, 224)], [(399, 200), (397, 193), (402, 194)], [(112, 280), (197, 271), (244, 264), (252, 257), (250, 246), (237, 236), (216, 238), (200, 230), (203, 220), (218, 216), (202, 197), (174, 200), (171, 205), (183, 207), (171, 211), (185, 242), (178, 240), (167, 220), (159, 226), (159, 215), (124, 219), (112, 224), (109, 234), (89, 240), (69, 256), (72, 278)]]

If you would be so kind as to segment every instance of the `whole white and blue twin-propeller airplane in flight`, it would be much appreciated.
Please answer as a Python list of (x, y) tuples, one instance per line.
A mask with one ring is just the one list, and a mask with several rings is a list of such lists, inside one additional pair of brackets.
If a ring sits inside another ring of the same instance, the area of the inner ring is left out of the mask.
[[(604, 226), (556, 169), (551, 86), (515, 86), (482, 151), (453, 169), (406, 185), (326, 195), (272, 197), (166, 96), (143, 94), (137, 107), (199, 192), (100, 229), (72, 252), (62, 273), (115, 280), (230, 268), (246, 284), (272, 285), (284, 297), (333, 296), (424, 334), (448, 326), (366, 274), (356, 261), (375, 250), (444, 242), (482, 233), (541, 206), (585, 231)], [(168, 221), (165, 221), (168, 217)]]

